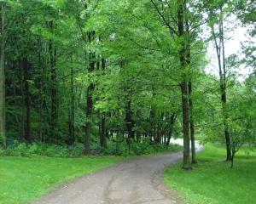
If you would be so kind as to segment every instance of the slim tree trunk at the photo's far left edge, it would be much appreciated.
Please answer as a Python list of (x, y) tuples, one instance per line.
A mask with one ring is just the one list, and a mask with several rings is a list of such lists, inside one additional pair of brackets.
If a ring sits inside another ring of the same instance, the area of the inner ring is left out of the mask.
[(0, 48), (0, 142), (3, 149), (6, 148), (5, 136), (5, 80), (4, 80), (4, 6), (0, 5), (0, 29), (1, 29), (1, 48)]

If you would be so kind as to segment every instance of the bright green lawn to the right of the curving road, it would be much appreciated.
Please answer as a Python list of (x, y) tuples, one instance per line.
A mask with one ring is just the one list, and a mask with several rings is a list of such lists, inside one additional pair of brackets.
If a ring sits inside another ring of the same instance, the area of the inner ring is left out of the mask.
[(247, 155), (246, 150), (240, 150), (233, 169), (224, 159), (223, 147), (208, 144), (198, 154), (199, 163), (192, 171), (181, 170), (180, 164), (166, 169), (165, 183), (181, 192), (185, 203), (256, 203), (256, 153)]

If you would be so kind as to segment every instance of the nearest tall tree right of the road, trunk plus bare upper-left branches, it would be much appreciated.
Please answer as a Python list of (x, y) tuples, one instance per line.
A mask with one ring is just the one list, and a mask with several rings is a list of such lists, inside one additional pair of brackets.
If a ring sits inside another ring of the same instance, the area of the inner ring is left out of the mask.
[[(150, 1), (159, 14), (163, 24), (168, 28), (171, 37), (180, 42), (178, 47), (179, 58), (179, 70), (181, 73), (179, 86), (182, 95), (182, 111), (183, 111), (183, 169), (191, 169), (190, 163), (190, 136), (189, 136), (189, 89), (188, 89), (188, 75), (187, 75), (187, 35), (185, 31), (185, 15), (188, 12), (186, 10), (186, 2), (183, 0), (177, 0), (172, 5), (169, 2), (156, 3), (156, 1)], [(167, 14), (165, 8), (168, 8)], [(177, 17), (173, 15), (177, 14)]]

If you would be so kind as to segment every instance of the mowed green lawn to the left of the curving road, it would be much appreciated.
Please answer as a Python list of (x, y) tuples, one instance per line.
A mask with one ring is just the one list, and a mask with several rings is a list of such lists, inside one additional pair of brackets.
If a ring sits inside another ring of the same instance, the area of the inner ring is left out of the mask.
[(44, 195), (56, 185), (95, 173), (123, 157), (0, 157), (0, 203), (19, 204)]

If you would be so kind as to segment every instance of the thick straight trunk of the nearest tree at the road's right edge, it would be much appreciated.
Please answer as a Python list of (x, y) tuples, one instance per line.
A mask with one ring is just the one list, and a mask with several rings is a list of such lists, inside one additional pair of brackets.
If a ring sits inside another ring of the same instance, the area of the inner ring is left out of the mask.
[[(178, 36), (182, 39), (182, 48), (179, 51), (179, 61), (181, 71), (186, 68), (186, 43), (184, 42), (184, 25), (183, 25), (183, 0), (179, 0), (179, 6), (177, 10), (177, 27)], [(181, 82), (181, 94), (182, 94), (182, 110), (183, 110), (183, 169), (191, 169), (190, 163), (190, 141), (189, 141), (189, 92), (187, 75), (183, 73), (183, 81)]]

